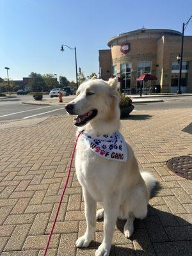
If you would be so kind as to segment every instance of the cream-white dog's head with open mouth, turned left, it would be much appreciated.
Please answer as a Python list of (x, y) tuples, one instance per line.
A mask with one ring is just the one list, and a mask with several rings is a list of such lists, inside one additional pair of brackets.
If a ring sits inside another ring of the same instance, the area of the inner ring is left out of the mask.
[(99, 118), (106, 122), (119, 119), (117, 83), (118, 77), (108, 82), (93, 77), (81, 84), (76, 99), (65, 106), (70, 115), (77, 115), (74, 124), (83, 126)]

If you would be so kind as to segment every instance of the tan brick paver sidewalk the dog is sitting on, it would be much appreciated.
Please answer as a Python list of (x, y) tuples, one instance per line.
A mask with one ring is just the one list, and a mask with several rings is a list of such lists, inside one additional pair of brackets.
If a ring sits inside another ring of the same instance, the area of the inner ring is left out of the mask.
[[(118, 221), (111, 255), (192, 255), (191, 181), (166, 168), (174, 156), (192, 154), (192, 136), (182, 132), (191, 109), (135, 111), (122, 120), (122, 133), (134, 148), (141, 170), (153, 173), (161, 189), (150, 200), (148, 217), (135, 221), (125, 239)], [(51, 228), (72, 153), (75, 128), (68, 116), (51, 116), (28, 127), (0, 133), (0, 254), (40, 256)], [(74, 168), (52, 236), (49, 256), (94, 255), (102, 241), (97, 222), (95, 241), (86, 250), (75, 241), (85, 229), (81, 187)]]

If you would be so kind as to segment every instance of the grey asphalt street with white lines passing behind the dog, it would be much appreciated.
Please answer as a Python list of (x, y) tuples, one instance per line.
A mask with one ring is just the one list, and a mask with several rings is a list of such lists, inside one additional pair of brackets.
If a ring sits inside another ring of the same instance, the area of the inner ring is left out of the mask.
[[(36, 118), (49, 115), (65, 115), (66, 111), (61, 106), (38, 106), (30, 104), (22, 104), (23, 100), (31, 99), (31, 95), (17, 96), (12, 99), (0, 100), (0, 120), (19, 120)], [(49, 98), (49, 95), (44, 95)], [(68, 99), (68, 98), (65, 98)], [(135, 103), (134, 111), (148, 111), (153, 109), (182, 109), (192, 108), (192, 97), (162, 97), (164, 102)]]

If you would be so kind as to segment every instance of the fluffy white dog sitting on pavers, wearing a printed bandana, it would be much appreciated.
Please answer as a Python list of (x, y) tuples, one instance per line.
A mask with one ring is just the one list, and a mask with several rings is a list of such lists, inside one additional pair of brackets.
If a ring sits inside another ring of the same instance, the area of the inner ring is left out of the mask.
[[(79, 86), (76, 99), (65, 106), (70, 115), (78, 115), (74, 124), (82, 132), (76, 173), (83, 188), (87, 228), (76, 246), (90, 244), (96, 218), (104, 216), (104, 238), (96, 256), (109, 255), (117, 218), (127, 220), (124, 234), (132, 235), (134, 218), (147, 216), (150, 190), (156, 183), (149, 173), (140, 173), (131, 146), (119, 132), (117, 81), (117, 77), (108, 82), (93, 77)], [(97, 203), (103, 208), (96, 213)]]

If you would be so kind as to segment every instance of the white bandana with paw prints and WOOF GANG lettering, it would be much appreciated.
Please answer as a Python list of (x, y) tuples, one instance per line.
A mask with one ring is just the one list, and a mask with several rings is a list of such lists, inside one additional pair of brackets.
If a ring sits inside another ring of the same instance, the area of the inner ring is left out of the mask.
[(127, 161), (127, 145), (120, 132), (93, 137), (83, 131), (82, 135), (87, 147), (98, 156), (114, 161)]

